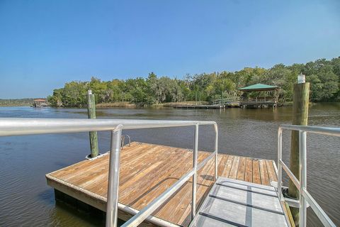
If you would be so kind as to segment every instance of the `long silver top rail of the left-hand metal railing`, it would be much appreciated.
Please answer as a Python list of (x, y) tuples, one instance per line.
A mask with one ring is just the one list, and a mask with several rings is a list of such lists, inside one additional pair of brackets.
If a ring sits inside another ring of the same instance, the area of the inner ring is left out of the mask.
[(80, 133), (124, 129), (168, 128), (195, 125), (217, 125), (215, 121), (163, 121), (134, 119), (79, 118), (0, 118), (0, 136), (47, 133)]

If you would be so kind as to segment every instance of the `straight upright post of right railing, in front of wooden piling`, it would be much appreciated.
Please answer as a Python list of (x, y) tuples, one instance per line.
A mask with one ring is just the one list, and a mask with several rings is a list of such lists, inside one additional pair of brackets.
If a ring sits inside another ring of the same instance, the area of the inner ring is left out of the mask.
[(307, 148), (306, 132), (299, 131), (299, 150), (300, 150), (300, 218), (299, 227), (307, 225), (307, 201), (302, 195), (302, 190), (307, 189)]

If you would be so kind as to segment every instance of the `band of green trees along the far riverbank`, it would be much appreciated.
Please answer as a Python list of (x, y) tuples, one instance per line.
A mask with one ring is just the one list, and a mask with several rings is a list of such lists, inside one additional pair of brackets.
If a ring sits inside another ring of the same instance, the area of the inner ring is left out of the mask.
[(114, 103), (140, 106), (167, 102), (201, 101), (212, 102), (224, 97), (239, 96), (237, 89), (251, 84), (270, 84), (280, 87), (280, 102), (293, 99), (293, 84), (297, 74), (306, 75), (311, 83), (310, 101), (340, 100), (340, 57), (320, 59), (306, 64), (274, 65), (270, 69), (246, 67), (236, 72), (212, 72), (187, 74), (184, 79), (157, 77), (153, 72), (147, 78), (113, 79), (101, 81), (92, 77), (89, 82), (72, 81), (63, 88), (55, 89), (48, 97), (51, 106), (86, 106), (86, 92), (92, 89), (96, 103), (112, 106)]

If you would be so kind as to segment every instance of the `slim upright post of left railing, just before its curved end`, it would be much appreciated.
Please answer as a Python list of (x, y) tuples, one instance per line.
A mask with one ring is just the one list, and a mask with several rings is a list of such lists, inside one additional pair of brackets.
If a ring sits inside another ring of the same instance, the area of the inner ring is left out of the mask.
[(198, 124), (195, 126), (195, 134), (193, 140), (193, 190), (191, 198), (191, 220), (196, 216), (196, 184), (197, 184), (197, 155), (198, 155)]

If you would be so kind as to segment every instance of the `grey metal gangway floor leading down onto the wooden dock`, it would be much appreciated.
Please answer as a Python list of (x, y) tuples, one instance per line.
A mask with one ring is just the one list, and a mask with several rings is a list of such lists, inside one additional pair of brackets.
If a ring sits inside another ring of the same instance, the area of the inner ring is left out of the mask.
[(218, 177), (190, 227), (290, 226), (271, 186)]

